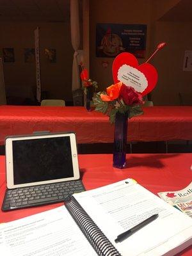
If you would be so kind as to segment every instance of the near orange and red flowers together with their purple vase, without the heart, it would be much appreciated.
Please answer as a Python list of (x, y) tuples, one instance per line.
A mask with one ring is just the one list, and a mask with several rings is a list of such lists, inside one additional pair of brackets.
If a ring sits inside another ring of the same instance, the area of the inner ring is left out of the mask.
[(93, 98), (95, 110), (109, 116), (111, 124), (115, 123), (113, 166), (124, 168), (126, 163), (127, 120), (132, 116), (143, 114), (141, 104), (143, 97), (131, 86), (122, 82), (112, 84), (106, 92), (99, 92)]

